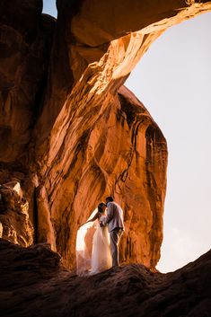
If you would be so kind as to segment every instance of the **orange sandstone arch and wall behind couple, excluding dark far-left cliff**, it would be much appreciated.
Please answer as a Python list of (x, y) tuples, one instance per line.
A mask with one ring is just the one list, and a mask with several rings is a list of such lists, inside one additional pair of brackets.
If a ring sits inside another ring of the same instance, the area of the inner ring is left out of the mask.
[(36, 127), (57, 251), (75, 266), (77, 224), (113, 194), (126, 218), (121, 259), (154, 268), (163, 239), (166, 145), (143, 105), (120, 86), (166, 28), (210, 3), (63, 0), (57, 8), (52, 73)]

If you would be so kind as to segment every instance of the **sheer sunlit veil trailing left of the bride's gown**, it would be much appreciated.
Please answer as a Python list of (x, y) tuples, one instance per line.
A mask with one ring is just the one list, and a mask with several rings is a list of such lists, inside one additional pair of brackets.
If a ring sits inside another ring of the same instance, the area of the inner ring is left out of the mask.
[[(97, 213), (94, 209), (87, 221)], [(89, 274), (92, 265), (92, 238), (98, 225), (98, 220), (82, 225), (77, 231), (76, 237), (76, 270), (79, 276)]]

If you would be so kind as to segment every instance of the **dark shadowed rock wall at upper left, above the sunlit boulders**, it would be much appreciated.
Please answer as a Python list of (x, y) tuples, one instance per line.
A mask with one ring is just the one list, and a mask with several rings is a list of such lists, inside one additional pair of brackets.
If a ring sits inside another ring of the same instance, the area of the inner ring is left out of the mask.
[(0, 2), (1, 162), (21, 161), (42, 101), (54, 31), (42, 1)]

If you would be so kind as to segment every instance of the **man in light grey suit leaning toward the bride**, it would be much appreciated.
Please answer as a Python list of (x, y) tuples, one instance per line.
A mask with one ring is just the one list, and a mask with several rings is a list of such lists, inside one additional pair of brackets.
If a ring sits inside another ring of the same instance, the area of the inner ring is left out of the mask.
[(108, 224), (110, 233), (110, 251), (112, 266), (119, 265), (118, 244), (124, 230), (123, 211), (112, 197), (106, 198), (107, 216), (101, 222), (101, 226)]

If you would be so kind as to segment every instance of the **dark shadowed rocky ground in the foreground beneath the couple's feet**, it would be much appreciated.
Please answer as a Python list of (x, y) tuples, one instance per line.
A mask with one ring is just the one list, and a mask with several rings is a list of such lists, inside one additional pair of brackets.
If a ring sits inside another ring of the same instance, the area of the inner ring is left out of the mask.
[(0, 316), (211, 315), (211, 251), (168, 274), (130, 264), (77, 277), (59, 260), (48, 245), (24, 249), (1, 240)]

